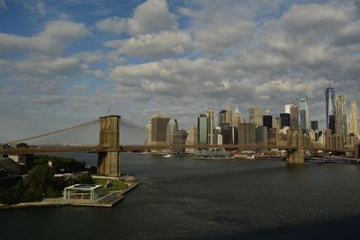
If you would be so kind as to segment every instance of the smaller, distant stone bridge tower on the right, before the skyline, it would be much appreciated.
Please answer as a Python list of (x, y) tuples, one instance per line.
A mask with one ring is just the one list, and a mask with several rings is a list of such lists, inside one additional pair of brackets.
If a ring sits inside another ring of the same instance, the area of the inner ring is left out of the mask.
[(296, 147), (296, 149), (289, 149), (287, 156), (287, 164), (304, 164), (303, 154), (303, 134), (302, 130), (289, 129), (287, 132), (288, 147)]

